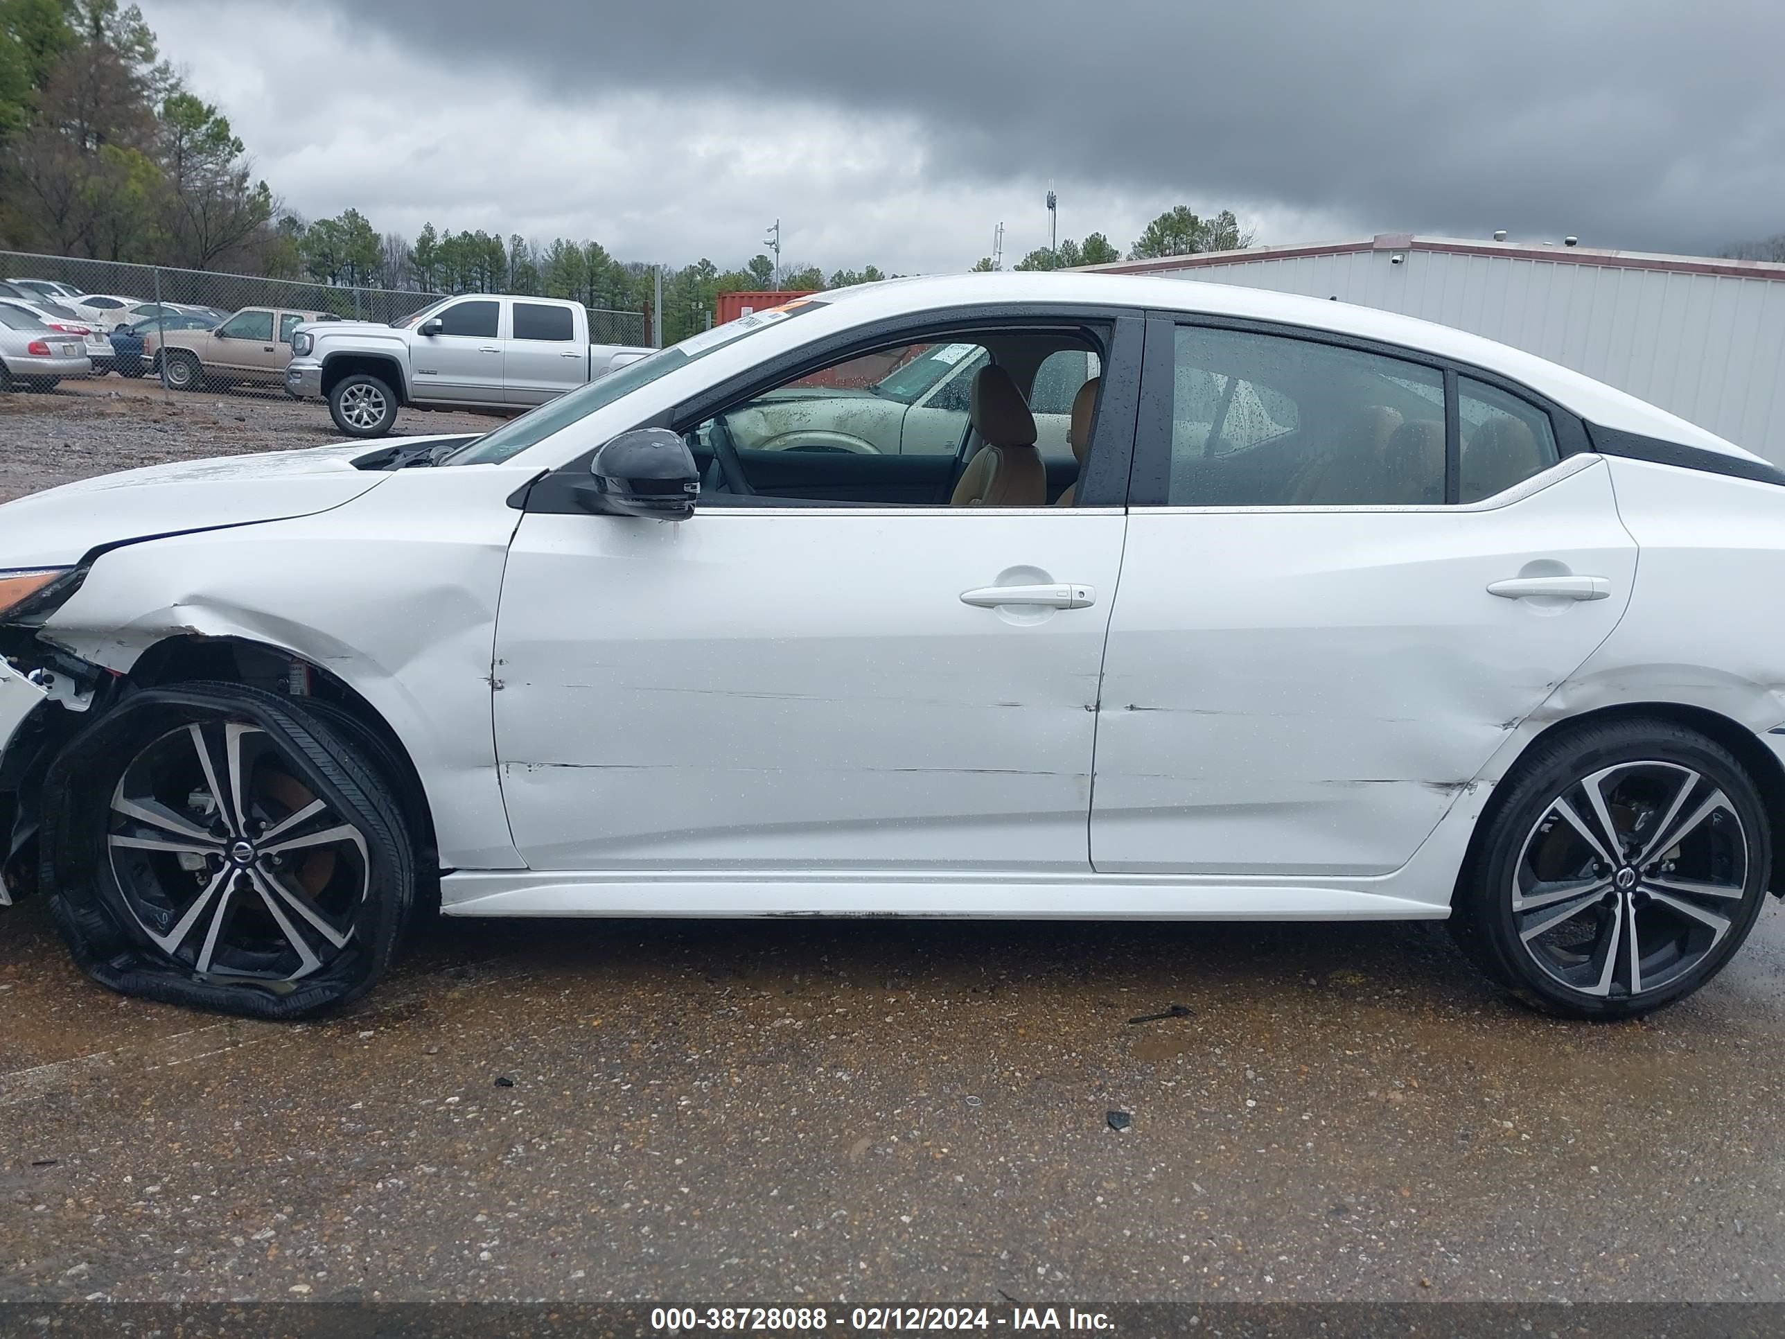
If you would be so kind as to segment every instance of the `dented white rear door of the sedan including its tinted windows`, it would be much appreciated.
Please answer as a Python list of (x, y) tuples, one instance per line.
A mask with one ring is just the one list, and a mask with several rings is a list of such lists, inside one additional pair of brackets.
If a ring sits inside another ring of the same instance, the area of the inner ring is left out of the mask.
[(1128, 528), (1092, 864), (1391, 873), (1621, 618), (1637, 552), (1608, 471), (1430, 364), (1160, 329), (1176, 409), (1137, 443), (1162, 505)]

